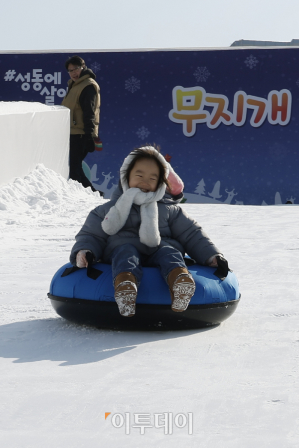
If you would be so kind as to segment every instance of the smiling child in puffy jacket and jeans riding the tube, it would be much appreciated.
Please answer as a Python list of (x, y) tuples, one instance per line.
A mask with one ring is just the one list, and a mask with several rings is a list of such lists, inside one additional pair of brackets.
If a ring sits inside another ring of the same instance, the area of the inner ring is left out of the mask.
[(184, 253), (217, 266), (219, 250), (176, 204), (180, 199), (171, 195), (168, 175), (168, 163), (152, 146), (132, 151), (121, 167), (115, 199), (90, 212), (71, 251), (70, 261), (79, 268), (87, 267), (88, 251), (94, 261), (112, 265), (115, 300), (125, 317), (135, 314), (142, 266), (159, 268), (176, 312), (187, 308), (195, 291)]

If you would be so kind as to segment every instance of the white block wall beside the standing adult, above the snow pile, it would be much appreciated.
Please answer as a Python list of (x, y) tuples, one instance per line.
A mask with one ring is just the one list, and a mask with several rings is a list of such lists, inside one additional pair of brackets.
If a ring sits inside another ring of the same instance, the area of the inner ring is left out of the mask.
[(43, 163), (69, 174), (69, 109), (41, 103), (0, 102), (0, 186)]

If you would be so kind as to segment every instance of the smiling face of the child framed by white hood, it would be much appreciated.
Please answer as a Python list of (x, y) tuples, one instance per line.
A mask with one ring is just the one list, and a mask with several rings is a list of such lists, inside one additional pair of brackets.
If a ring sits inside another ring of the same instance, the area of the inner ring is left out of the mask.
[(129, 187), (140, 188), (144, 193), (156, 191), (159, 180), (159, 167), (152, 159), (139, 159), (129, 176)]

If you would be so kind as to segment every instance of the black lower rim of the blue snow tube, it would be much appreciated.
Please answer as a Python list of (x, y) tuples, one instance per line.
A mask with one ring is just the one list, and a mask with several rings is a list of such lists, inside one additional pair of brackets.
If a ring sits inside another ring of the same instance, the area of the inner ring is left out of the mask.
[(102, 329), (179, 330), (220, 324), (235, 312), (241, 295), (239, 299), (229, 302), (189, 305), (181, 313), (172, 311), (170, 305), (138, 303), (136, 315), (131, 318), (121, 316), (115, 302), (66, 298), (50, 293), (48, 297), (56, 313), (75, 324)]

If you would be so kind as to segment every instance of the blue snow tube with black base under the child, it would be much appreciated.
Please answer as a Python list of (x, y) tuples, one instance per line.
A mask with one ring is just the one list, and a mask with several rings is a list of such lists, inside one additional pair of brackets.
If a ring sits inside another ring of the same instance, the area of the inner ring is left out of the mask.
[(174, 330), (202, 328), (228, 319), (240, 300), (235, 274), (228, 272), (227, 277), (220, 280), (214, 275), (215, 268), (194, 264), (188, 266), (188, 270), (196, 290), (188, 308), (179, 313), (171, 310), (168, 286), (154, 267), (143, 268), (136, 314), (131, 318), (119, 313), (109, 264), (94, 264), (95, 275), (90, 277), (87, 269), (65, 264), (54, 275), (48, 297), (62, 318), (98, 328)]

